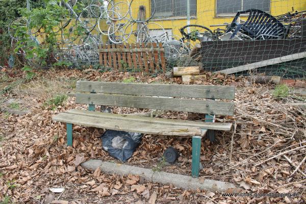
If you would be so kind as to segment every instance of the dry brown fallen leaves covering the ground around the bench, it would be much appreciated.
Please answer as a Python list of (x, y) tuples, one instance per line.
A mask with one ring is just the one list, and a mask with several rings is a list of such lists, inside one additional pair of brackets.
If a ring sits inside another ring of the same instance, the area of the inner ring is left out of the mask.
[[(71, 80), (69, 77), (72, 76), (74, 79), (82, 78), (88, 81), (119, 82), (126, 76), (132, 75), (137, 79), (137, 82), (180, 83), (180, 79), (165, 80), (163, 74), (158, 75), (157, 78), (152, 78), (149, 75), (143, 76), (141, 73), (116, 71), (86, 74), (79, 70), (55, 70), (48, 74), (47, 76), (44, 75), (44, 83), (54, 84), (56, 87), (62, 86), (64, 81)], [(240, 80), (235, 77), (232, 78), (231, 75), (219, 75), (218, 78), (213, 73), (206, 74), (208, 76), (207, 82), (197, 81), (196, 83), (217, 85), (222, 81), (222, 84), (228, 85)], [(38, 86), (40, 80), (38, 78), (31, 83)], [(29, 84), (24, 84), (24, 86), (29, 86)], [(47, 90), (46, 88), (38, 87), (41, 90)], [(248, 91), (250, 92), (248, 93)], [(272, 100), (270, 91), (268, 86), (257, 87), (256, 85), (252, 85), (251, 88), (240, 87), (239, 90), (236, 90), (235, 115), (216, 117), (217, 122), (236, 121), (241, 124), (237, 126), (237, 134), (233, 140), (232, 163), (228, 162), (228, 156), (230, 155), (231, 149), (229, 147), (231, 146), (233, 132), (220, 133), (221, 139), (215, 143), (202, 140), (200, 159), (204, 168), (200, 171), (201, 176), (205, 176), (206, 179), (234, 182), (249, 192), (268, 187), (274, 188), (286, 184), (289, 180), (298, 181), (301, 179), (300, 173), (291, 176), (295, 168), (282, 157), (254, 166), (254, 164), (282, 152), (284, 148), (294, 148), (291, 145), (300, 144), (305, 136), (305, 132), (303, 132), (306, 123), (304, 109), (285, 106), (282, 101)], [(82, 195), (80, 200), (86, 200), (89, 195), (96, 195), (96, 200), (100, 200), (102, 196), (116, 196), (118, 202), (122, 203), (147, 203), (148, 201), (151, 203), (171, 203), (174, 199), (184, 202), (185, 198), (190, 199), (190, 202), (202, 202), (202, 198), (196, 198), (196, 193), (192, 191), (183, 193), (184, 190), (171, 185), (152, 184), (137, 175), (107, 175), (101, 172), (100, 168), (95, 169), (94, 172), (85, 171), (80, 167), (80, 164), (89, 158), (112, 160), (107, 152), (101, 149), (100, 135), (103, 134), (103, 130), (73, 125), (73, 144), (72, 147), (67, 147), (65, 124), (52, 122), (52, 117), (66, 110), (83, 109), (84, 106), (75, 104), (75, 99), (70, 97), (65, 106), (58, 107), (55, 111), (45, 110), (41, 108), (41, 105), (49, 98), (48, 93), (41, 91), (40, 94), (37, 94), (33, 92), (33, 88), (28, 89), (27, 92), (30, 93), (30, 96), (23, 94), (25, 100), (27, 100), (27, 97), (31, 98), (31, 100), (28, 100), (33, 108), (31, 114), (6, 116), (4, 113), (0, 113), (2, 127), (0, 128), (0, 135), (5, 138), (0, 146), (0, 168), (1, 173), (3, 173), (3, 176), (0, 177), (0, 186), (3, 186), (3, 188), (0, 187), (0, 195), (10, 195), (14, 198), (15, 203), (50, 203), (55, 201), (58, 196), (55, 198), (53, 193), (49, 193), (48, 188), (65, 187), (66, 190), (62, 194), (61, 200), (55, 202), (63, 201), (66, 203), (66, 200), (69, 200), (69, 204), (74, 204), (70, 201), (72, 194)], [(13, 93), (5, 97), (15, 97), (14, 95), (18, 97), (19, 94)], [(294, 102), (290, 97), (286, 100)], [(114, 108), (113, 110), (114, 113), (120, 114), (149, 111), (125, 108)], [(203, 121), (205, 116), (202, 114), (165, 112), (160, 117)], [(296, 132), (295, 130), (302, 131)], [(291, 137), (294, 140), (291, 140)], [(162, 152), (169, 146), (179, 149), (181, 156), (177, 163), (166, 165), (164, 170), (190, 175), (192, 151), (190, 138), (145, 135), (142, 144), (134, 152), (129, 164), (151, 168), (159, 162)], [(304, 150), (301, 149), (288, 154), (295, 166), (301, 163), (303, 152)], [(254, 155), (257, 156), (247, 159)], [(231, 169), (231, 173), (218, 175), (219, 172), (231, 168), (233, 165), (237, 166)], [(305, 165), (301, 164), (300, 170), (304, 171), (304, 168)], [(248, 179), (245, 179), (246, 177)], [(9, 188), (9, 184), (17, 185), (17, 187), (11, 186)], [(33, 188), (34, 186), (36, 188)], [(302, 184), (294, 184), (279, 189), (279, 192), (297, 191), (301, 193), (303, 186)], [(47, 190), (41, 190), (45, 188)], [(219, 192), (202, 191), (201, 193), (213, 199), (218, 197), (218, 203), (237, 202), (236, 198), (226, 199), (221, 197)], [(302, 201), (301, 198), (284, 199), (283, 202), (287, 203), (289, 201), (295, 203)], [(84, 203), (80, 200), (75, 200), (75, 203)], [(210, 203), (211, 201), (207, 200), (206, 202)], [(272, 200), (271, 203), (273, 202), (279, 201)]]

